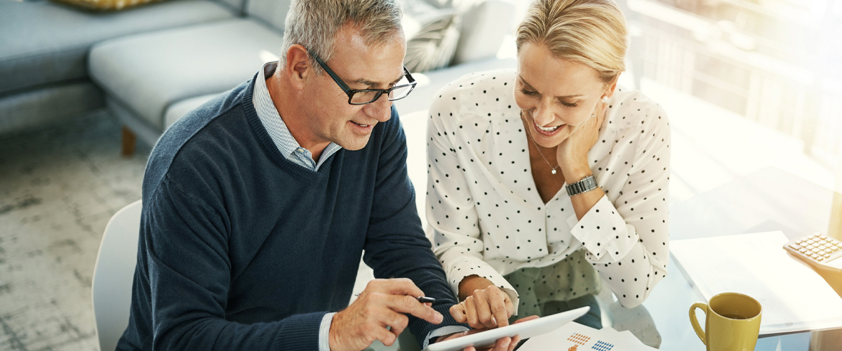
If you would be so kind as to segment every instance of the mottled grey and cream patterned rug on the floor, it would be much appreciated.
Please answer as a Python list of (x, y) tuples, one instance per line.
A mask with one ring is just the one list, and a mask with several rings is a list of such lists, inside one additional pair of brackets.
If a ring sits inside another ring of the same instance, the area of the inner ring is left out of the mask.
[(0, 350), (99, 350), (93, 264), (111, 215), (141, 198), (149, 151), (120, 157), (104, 111), (0, 137)]

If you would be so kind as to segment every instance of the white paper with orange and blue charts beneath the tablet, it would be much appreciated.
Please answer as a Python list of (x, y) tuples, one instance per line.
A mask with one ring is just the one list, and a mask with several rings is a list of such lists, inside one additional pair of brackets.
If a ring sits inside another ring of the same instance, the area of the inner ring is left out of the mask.
[(520, 351), (653, 351), (641, 343), (632, 332), (617, 332), (610, 327), (596, 330), (592, 327), (569, 322), (554, 332), (547, 332), (527, 340)]

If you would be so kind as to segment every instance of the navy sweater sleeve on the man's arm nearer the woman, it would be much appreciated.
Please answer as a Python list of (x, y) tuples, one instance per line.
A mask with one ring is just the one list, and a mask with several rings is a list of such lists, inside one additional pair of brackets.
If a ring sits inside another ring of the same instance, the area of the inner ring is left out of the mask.
[(440, 324), (409, 316), (409, 330), (422, 345), (435, 329), (466, 325), (450, 316), (456, 297), (421, 228), (415, 191), (407, 173), (406, 136), (394, 108), (383, 133), (364, 260), (374, 269), (376, 278), (412, 279), (424, 295), (436, 299), (433, 308), (445, 317)]

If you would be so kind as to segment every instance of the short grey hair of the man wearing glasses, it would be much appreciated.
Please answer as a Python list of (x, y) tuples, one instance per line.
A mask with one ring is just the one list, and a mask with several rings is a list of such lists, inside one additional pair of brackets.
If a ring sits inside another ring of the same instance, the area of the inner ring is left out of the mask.
[[(360, 29), (365, 45), (380, 45), (401, 33), (402, 12), (396, 0), (292, 0), (284, 24), (284, 50), (304, 46), (322, 61), (333, 57), (333, 40), (344, 24)], [(310, 65), (321, 75), (322, 66), (310, 58)]]

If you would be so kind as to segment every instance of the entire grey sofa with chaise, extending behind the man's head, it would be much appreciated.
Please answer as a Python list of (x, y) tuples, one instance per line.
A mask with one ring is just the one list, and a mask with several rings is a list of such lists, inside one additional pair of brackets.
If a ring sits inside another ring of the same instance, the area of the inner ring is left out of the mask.
[[(462, 74), (514, 66), (496, 58), (514, 24), (514, 0), (465, 0), (459, 8), (399, 1), (405, 17), (418, 14), (413, 3), (459, 12), (460, 33), (451, 66), (413, 72), (419, 84), (396, 102), (401, 114), (426, 109)], [(289, 0), (168, 0), (92, 13), (0, 0), (0, 135), (107, 107), (124, 125), (125, 155), (136, 139), (153, 145), (191, 109), (277, 60), (288, 8)]]

